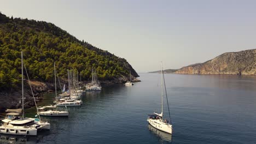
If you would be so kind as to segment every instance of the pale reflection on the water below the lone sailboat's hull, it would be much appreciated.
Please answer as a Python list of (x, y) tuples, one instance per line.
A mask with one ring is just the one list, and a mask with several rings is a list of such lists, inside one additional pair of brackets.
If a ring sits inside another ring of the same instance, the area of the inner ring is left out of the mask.
[(172, 134), (168, 134), (165, 133), (164, 131), (158, 130), (154, 127), (152, 127), (152, 125), (148, 124), (148, 129), (150, 131), (150, 133), (154, 134), (155, 136), (157, 136), (160, 141), (167, 141), (167, 142), (172, 142)]

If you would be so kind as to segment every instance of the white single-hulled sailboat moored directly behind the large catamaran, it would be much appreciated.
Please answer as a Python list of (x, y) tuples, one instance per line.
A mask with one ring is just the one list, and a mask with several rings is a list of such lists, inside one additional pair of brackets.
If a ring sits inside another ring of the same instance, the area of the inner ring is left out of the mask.
[[(56, 86), (55, 63), (54, 63), (54, 78), (55, 78), (55, 100), (56, 100), (57, 99), (57, 86)], [(63, 89), (65, 89), (65, 87)], [(56, 105), (42, 106), (42, 107), (39, 107), (38, 110), (39, 110), (38, 115), (40, 115), (40, 116), (68, 117), (68, 111), (57, 111)]]

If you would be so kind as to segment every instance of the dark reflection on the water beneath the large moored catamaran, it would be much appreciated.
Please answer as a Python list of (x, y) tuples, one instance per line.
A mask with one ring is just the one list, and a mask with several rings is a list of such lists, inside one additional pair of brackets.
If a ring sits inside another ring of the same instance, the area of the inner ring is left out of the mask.
[(49, 130), (38, 131), (37, 136), (22, 136), (22, 135), (7, 135), (7, 134), (0, 134), (0, 143), (14, 143), (14, 144), (21, 144), (21, 143), (38, 143), (43, 140), (44, 136), (50, 134)]

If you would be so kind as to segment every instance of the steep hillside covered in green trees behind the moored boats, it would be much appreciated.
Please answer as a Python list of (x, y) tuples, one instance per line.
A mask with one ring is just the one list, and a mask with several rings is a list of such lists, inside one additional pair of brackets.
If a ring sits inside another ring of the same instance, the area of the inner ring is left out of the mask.
[(67, 69), (76, 69), (82, 80), (88, 80), (92, 67), (100, 80), (127, 77), (129, 70), (138, 76), (124, 58), (80, 41), (53, 23), (0, 14), (0, 90), (19, 85), (21, 51), (30, 78), (38, 81), (53, 81), (54, 62), (62, 78), (67, 77)]

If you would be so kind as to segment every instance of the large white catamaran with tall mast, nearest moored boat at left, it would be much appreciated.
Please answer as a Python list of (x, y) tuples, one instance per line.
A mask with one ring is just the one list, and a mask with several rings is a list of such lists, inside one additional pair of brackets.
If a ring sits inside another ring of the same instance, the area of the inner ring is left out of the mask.
[[(26, 67), (25, 67), (26, 68)], [(24, 78), (23, 78), (23, 54), (21, 52), (21, 75), (22, 75), (22, 109), (7, 109), (7, 114), (2, 119), (0, 134), (10, 135), (37, 135), (37, 130), (50, 129), (50, 123), (40, 121), (40, 118), (24, 117)], [(32, 88), (31, 88), (32, 89)], [(33, 93), (33, 92), (32, 92)], [(36, 103), (35, 103), (36, 104)], [(20, 115), (22, 115), (20, 117)]]

